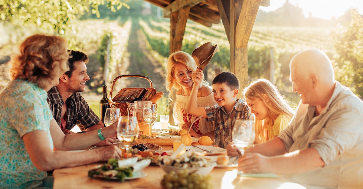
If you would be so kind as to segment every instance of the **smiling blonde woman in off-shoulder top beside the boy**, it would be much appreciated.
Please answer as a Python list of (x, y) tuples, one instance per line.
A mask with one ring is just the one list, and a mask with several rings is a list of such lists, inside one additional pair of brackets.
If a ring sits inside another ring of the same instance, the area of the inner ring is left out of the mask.
[[(196, 68), (197, 65), (195, 60), (186, 52), (177, 51), (172, 53), (168, 58), (166, 88), (169, 91), (168, 97), (171, 103), (174, 101), (174, 99), (172, 99), (173, 89), (177, 90), (173, 117), (175, 124), (179, 125), (179, 128), (188, 129), (191, 122), (197, 118), (185, 111), (189, 95), (193, 88), (192, 73)], [(217, 104), (213, 99), (212, 89), (208, 86), (208, 82), (203, 80), (198, 90), (197, 106), (212, 107), (215, 105)], [(204, 118), (201, 118), (193, 124), (193, 130), (195, 133), (191, 134), (195, 137), (206, 135), (209, 132), (211, 132), (211, 136), (214, 136), (213, 121), (208, 122)]]

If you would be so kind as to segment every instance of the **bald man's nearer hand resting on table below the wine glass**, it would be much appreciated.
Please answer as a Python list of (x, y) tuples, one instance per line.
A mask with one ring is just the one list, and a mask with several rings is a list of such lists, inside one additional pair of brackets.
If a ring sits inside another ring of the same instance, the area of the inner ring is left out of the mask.
[(238, 171), (244, 173), (273, 172), (271, 158), (258, 153), (245, 153), (238, 158)]

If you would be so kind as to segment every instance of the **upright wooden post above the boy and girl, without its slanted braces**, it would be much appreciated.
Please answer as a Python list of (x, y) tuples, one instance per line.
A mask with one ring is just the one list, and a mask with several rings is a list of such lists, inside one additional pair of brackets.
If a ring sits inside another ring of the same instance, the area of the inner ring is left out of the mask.
[[(244, 0), (247, 1), (247, 0)], [(244, 1), (241, 0), (229, 0), (229, 21), (230, 21), (230, 61), (229, 61), (229, 71), (236, 74), (240, 80), (240, 89), (237, 98), (242, 98), (242, 90), (248, 83), (248, 51), (247, 47), (238, 48), (235, 46), (236, 43), (236, 27), (238, 19), (240, 17), (242, 4)]]

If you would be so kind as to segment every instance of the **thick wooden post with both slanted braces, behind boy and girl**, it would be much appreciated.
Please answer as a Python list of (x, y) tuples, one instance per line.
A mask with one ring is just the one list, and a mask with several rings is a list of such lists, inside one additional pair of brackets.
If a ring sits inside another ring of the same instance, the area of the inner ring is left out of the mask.
[[(247, 43), (257, 16), (261, 0), (216, 0), (230, 45), (229, 71), (240, 80), (237, 98), (248, 84)], [(228, 9), (229, 8), (229, 9)]]

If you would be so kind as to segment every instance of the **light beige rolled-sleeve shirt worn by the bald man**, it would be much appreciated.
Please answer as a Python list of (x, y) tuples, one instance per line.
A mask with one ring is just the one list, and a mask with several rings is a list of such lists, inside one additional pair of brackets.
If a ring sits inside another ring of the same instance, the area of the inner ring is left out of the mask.
[(333, 95), (320, 115), (315, 106), (299, 104), (285, 130), (278, 136), (287, 151), (314, 148), (325, 167), (291, 175), (302, 184), (324, 188), (363, 186), (363, 102), (336, 81)]

